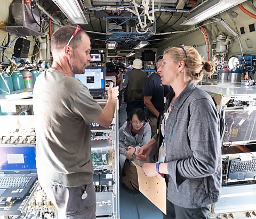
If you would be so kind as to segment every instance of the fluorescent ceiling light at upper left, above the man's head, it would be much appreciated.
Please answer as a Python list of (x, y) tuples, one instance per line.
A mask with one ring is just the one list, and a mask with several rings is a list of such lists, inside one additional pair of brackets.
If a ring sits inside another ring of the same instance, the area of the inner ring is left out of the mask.
[(88, 24), (80, 0), (52, 0), (67, 18), (75, 24)]

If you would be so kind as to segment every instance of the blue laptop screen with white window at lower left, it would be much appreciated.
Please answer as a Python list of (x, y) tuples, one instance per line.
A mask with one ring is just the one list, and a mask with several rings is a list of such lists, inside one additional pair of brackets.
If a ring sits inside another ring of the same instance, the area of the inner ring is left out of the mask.
[(35, 147), (0, 147), (0, 171), (36, 170)]

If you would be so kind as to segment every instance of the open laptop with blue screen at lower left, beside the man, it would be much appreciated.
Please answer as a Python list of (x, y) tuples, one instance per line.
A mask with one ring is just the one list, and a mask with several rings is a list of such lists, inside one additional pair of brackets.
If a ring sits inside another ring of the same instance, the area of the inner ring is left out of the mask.
[(0, 146), (0, 198), (23, 198), (36, 180), (34, 146)]

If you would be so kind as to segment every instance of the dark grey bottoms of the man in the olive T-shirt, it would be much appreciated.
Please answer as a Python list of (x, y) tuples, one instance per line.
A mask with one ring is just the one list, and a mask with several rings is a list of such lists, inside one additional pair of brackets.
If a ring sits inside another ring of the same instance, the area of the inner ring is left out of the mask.
[[(56, 207), (59, 219), (96, 218), (96, 194), (93, 182), (80, 187), (65, 187), (42, 181), (40, 184)], [(88, 196), (82, 199), (84, 191)]]

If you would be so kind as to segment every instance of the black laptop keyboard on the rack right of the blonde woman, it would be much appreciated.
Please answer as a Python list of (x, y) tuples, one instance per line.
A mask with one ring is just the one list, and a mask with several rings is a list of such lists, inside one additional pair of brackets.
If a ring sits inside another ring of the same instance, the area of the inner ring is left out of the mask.
[(241, 159), (230, 161), (228, 179), (245, 180), (254, 176), (256, 176), (256, 158), (249, 161), (241, 161)]

